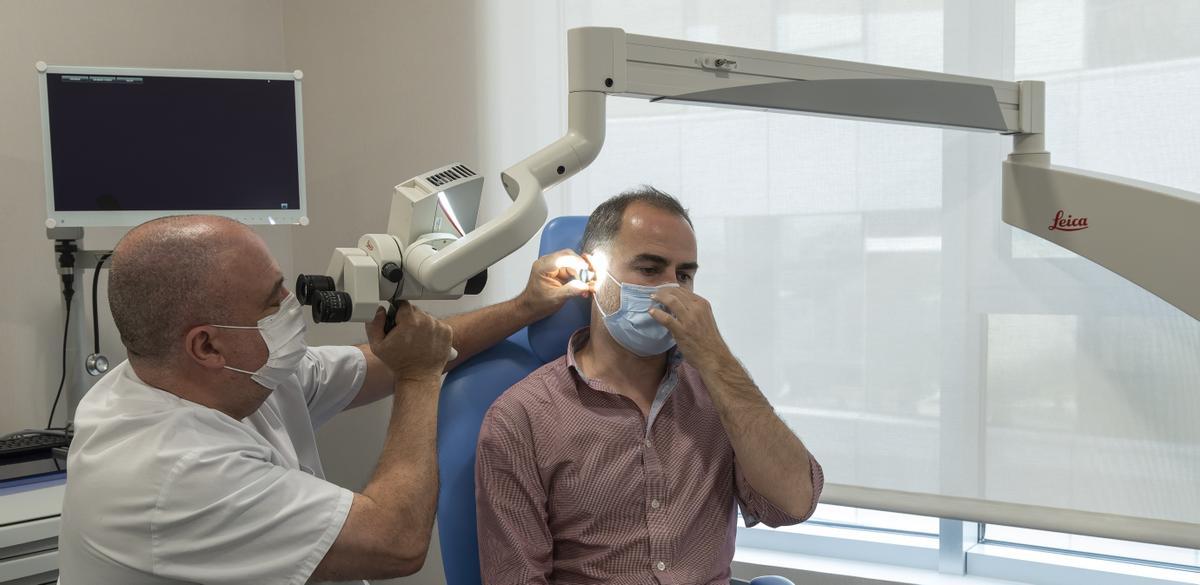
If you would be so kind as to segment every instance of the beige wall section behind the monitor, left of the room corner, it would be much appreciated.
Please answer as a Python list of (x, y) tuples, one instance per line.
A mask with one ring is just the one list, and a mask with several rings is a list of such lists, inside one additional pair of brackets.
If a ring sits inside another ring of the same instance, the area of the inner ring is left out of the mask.
[[(280, 0), (0, 2), (0, 432), (44, 424), (60, 375), (62, 297), (43, 227), (34, 64), (286, 71), (282, 14)], [(110, 248), (124, 231), (88, 230), (85, 245)], [(259, 233), (289, 271), (290, 228)], [(76, 281), (86, 295), (91, 273)], [(100, 302), (107, 307), (103, 295)], [(116, 363), (125, 351), (107, 309), (101, 315), (101, 346)]]

